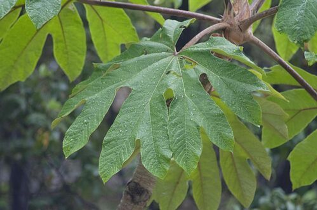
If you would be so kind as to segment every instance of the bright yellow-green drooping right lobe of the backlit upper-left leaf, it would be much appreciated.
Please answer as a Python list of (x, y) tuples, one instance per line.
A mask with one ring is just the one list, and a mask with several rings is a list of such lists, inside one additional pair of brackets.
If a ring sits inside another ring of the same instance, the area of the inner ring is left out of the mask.
[(81, 18), (69, 5), (50, 22), (54, 57), (70, 81), (81, 73), (86, 57), (86, 33)]

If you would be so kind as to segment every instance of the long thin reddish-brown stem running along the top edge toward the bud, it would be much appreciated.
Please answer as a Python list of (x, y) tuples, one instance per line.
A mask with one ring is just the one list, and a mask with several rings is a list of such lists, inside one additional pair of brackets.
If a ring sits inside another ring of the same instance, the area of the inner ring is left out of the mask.
[(212, 23), (219, 23), (221, 19), (212, 17), (210, 15), (205, 15), (197, 12), (190, 12), (180, 9), (171, 9), (161, 6), (151, 6), (151, 5), (143, 5), (143, 4), (135, 4), (135, 3), (125, 3), (125, 2), (116, 2), (116, 1), (99, 1), (99, 0), (77, 0), (81, 3), (98, 5), (98, 6), (108, 6), (108, 7), (116, 7), (123, 9), (132, 9), (132, 10), (140, 10), (140, 11), (148, 11), (148, 12), (157, 12), (161, 14), (169, 14), (177, 17), (186, 17), (186, 18), (196, 18), (198, 20), (206, 20)]

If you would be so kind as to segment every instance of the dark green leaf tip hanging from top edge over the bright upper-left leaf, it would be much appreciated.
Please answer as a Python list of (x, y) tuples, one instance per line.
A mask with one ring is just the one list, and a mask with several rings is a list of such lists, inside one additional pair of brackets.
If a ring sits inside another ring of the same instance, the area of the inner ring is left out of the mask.
[(25, 10), (38, 29), (57, 15), (60, 8), (61, 0), (25, 0)]

